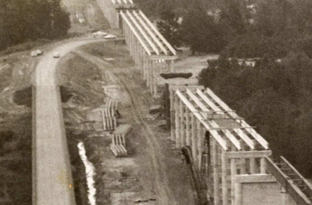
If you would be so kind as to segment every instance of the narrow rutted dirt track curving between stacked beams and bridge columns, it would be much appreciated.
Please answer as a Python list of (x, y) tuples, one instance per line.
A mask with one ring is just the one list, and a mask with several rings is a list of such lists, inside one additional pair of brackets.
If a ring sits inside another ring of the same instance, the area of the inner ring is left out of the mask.
[[(133, 117), (136, 121), (136, 123), (143, 125), (141, 128), (141, 134), (145, 136), (145, 140), (147, 142), (147, 153), (149, 157), (149, 161), (152, 162), (152, 166), (143, 166), (146, 170), (146, 175), (150, 175), (150, 173), (153, 174), (153, 176), (145, 176), (146, 185), (147, 187), (144, 187), (145, 189), (148, 189), (146, 192), (153, 193), (156, 191), (156, 194), (159, 195), (158, 197), (158, 204), (159, 205), (178, 205), (177, 198), (174, 196), (172, 191), (172, 186), (170, 187), (170, 182), (168, 180), (168, 173), (167, 170), (169, 169), (168, 166), (164, 163), (164, 158), (169, 158), (170, 156), (166, 156), (166, 153), (164, 151), (164, 148), (162, 148), (158, 142), (157, 137), (155, 136), (154, 132), (151, 130), (149, 125), (144, 122), (143, 116), (144, 113), (142, 112), (142, 109), (140, 109), (140, 105), (134, 96), (133, 92), (131, 91), (130, 86), (128, 87), (127, 84), (131, 82), (127, 82), (126, 79), (124, 79), (121, 76), (117, 76), (112, 71), (112, 65), (110, 63), (105, 62), (105, 60), (102, 60), (96, 56), (90, 55), (88, 53), (82, 52), (82, 51), (75, 51), (74, 53), (80, 55), (81, 57), (85, 58), (86, 60), (90, 61), (91, 63), (94, 63), (99, 66), (99, 68), (105, 67), (105, 72), (107, 74), (113, 76), (115, 78), (115, 81), (121, 85), (124, 90), (127, 91), (129, 94), (129, 97), (131, 99), (131, 109), (133, 113)], [(127, 82), (127, 83), (126, 83)], [(143, 143), (143, 142), (142, 142)], [(174, 169), (174, 167), (171, 167), (171, 169)], [(144, 170), (145, 171), (145, 170)], [(179, 171), (177, 171), (178, 173)], [(143, 175), (144, 175), (143, 174)], [(152, 181), (151, 181), (152, 180)], [(174, 180), (174, 179), (173, 179)], [(185, 180), (184, 182), (188, 183), (188, 179), (180, 179)], [(154, 184), (151, 184), (154, 183)], [(183, 202), (185, 204), (193, 204), (193, 198), (190, 192), (190, 186), (183, 186), (183, 184), (176, 183), (175, 181), (171, 182), (174, 184), (174, 186), (177, 186), (175, 188), (175, 192), (180, 192), (177, 195), (181, 196), (184, 195), (183, 198), (185, 199)], [(179, 187), (181, 185), (181, 187)], [(174, 187), (173, 186), (173, 187)], [(184, 190), (184, 188), (187, 187), (187, 190)], [(182, 204), (180, 202), (180, 204)]]

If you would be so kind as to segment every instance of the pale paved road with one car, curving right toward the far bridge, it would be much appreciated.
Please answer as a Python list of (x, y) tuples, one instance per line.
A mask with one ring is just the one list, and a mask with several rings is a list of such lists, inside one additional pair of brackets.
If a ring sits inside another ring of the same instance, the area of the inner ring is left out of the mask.
[(33, 205), (76, 205), (56, 75), (59, 59), (53, 53), (59, 52), (61, 58), (78, 46), (101, 41), (109, 40), (70, 42), (46, 53), (32, 76)]

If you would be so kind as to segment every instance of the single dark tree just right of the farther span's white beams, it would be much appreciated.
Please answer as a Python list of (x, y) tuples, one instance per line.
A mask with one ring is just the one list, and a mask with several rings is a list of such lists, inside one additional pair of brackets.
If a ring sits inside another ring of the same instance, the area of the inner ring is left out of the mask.
[(178, 18), (173, 10), (166, 9), (161, 13), (160, 21), (157, 21), (159, 32), (173, 47), (179, 47), (181, 45), (181, 28)]

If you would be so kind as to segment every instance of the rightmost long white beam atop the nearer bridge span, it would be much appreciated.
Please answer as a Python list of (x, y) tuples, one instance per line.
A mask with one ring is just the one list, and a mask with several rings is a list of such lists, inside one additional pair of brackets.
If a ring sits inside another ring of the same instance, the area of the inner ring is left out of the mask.
[[(209, 88), (206, 89), (206, 92), (214, 101), (216, 101), (223, 109), (230, 110), (230, 108), (225, 104), (219, 97), (217, 97), (212, 90)], [(239, 117), (236, 113), (229, 113), (229, 115), (233, 118)], [(236, 120), (238, 123), (241, 123), (244, 127), (250, 127), (244, 120)], [(269, 143), (261, 137), (254, 129), (246, 129), (248, 133), (250, 133), (265, 149), (269, 149)]]

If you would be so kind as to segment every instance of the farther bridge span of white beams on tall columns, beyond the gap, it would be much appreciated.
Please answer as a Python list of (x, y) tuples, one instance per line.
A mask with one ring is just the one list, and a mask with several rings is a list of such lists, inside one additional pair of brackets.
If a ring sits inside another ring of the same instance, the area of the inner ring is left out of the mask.
[(120, 11), (130, 55), (142, 71), (144, 80), (154, 96), (157, 95), (157, 78), (163, 72), (174, 72), (173, 61), (177, 53), (142, 11)]

